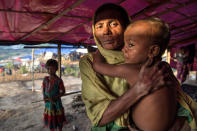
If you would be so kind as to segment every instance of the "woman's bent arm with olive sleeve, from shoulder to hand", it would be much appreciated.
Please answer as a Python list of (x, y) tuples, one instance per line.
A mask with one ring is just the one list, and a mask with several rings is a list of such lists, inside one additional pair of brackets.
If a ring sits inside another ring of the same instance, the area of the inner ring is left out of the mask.
[(141, 68), (139, 79), (133, 88), (130, 88), (119, 98), (110, 100), (104, 95), (109, 93), (106, 92), (107, 87), (102, 83), (98, 85), (95, 82), (98, 78), (92, 69), (91, 60), (88, 60), (87, 57), (80, 60), (82, 98), (86, 105), (88, 117), (94, 125), (103, 126), (116, 120), (153, 88), (164, 84), (162, 70), (159, 70), (156, 64), (151, 67), (148, 65), (150, 65), (149, 61)]

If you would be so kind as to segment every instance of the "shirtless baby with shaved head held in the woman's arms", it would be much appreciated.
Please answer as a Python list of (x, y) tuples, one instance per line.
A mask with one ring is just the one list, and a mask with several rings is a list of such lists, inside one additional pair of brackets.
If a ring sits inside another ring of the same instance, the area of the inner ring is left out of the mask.
[[(135, 21), (124, 33), (125, 45), (122, 51), (125, 64), (109, 65), (97, 51), (94, 54), (93, 68), (104, 75), (125, 78), (132, 88), (143, 64), (151, 66), (151, 63), (161, 60), (169, 39), (168, 25), (160, 19)], [(132, 107), (131, 113), (133, 122), (140, 130), (167, 131), (175, 120), (176, 88), (164, 85), (160, 90), (143, 97)]]

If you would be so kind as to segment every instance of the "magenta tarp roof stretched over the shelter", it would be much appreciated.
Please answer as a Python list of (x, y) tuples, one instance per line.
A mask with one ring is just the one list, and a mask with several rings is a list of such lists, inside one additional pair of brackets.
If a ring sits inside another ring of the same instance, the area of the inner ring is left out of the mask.
[(197, 41), (197, 0), (0, 0), (0, 45), (92, 45), (91, 17), (108, 2), (123, 6), (133, 20), (165, 20), (170, 46)]

